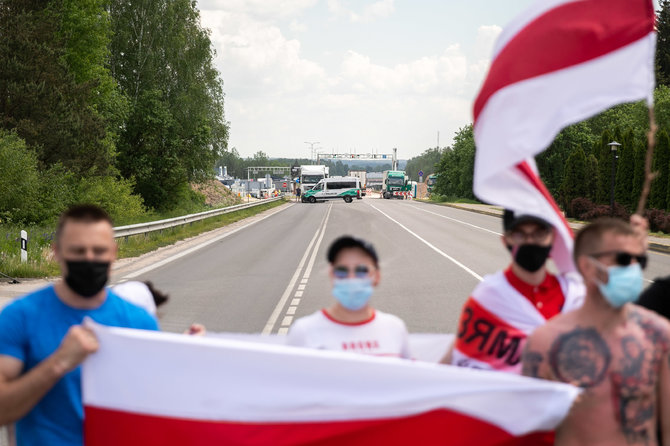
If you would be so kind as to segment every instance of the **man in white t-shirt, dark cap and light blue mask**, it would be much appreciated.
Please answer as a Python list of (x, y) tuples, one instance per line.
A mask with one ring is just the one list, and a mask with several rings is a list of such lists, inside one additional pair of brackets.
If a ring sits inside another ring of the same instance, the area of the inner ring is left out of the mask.
[(327, 258), (335, 302), (296, 320), (287, 344), (409, 358), (405, 323), (368, 303), (380, 279), (374, 247), (364, 240), (344, 236), (330, 245)]

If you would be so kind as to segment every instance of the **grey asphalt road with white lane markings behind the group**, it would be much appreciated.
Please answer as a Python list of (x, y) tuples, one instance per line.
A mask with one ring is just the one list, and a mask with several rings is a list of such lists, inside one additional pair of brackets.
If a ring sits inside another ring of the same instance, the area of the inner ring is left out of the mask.
[[(509, 263), (500, 225), (496, 217), (408, 200), (295, 203), (136, 279), (169, 292), (163, 330), (200, 322), (215, 332), (285, 333), (295, 318), (332, 302), (326, 251), (353, 234), (371, 241), (381, 260), (375, 307), (404, 319), (411, 332), (453, 333), (481, 277)], [(651, 253), (646, 277), (667, 271), (670, 257)]]

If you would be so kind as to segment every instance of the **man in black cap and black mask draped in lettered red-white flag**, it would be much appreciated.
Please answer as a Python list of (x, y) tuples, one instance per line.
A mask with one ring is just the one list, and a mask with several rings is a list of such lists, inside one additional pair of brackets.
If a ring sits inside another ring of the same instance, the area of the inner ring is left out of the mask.
[(577, 275), (547, 270), (555, 237), (550, 223), (506, 210), (503, 229), (502, 242), (512, 254), (512, 264), (486, 276), (474, 289), (463, 306), (445, 363), (521, 373), (526, 337), (583, 301), (584, 286)]

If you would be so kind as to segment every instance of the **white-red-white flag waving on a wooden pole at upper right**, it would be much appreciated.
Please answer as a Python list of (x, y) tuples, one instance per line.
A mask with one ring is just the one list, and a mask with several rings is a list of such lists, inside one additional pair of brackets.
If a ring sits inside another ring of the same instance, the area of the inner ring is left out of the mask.
[(565, 126), (654, 89), (651, 0), (539, 0), (508, 25), (474, 104), (474, 192), (549, 220), (552, 257), (574, 270), (572, 232), (533, 157)]

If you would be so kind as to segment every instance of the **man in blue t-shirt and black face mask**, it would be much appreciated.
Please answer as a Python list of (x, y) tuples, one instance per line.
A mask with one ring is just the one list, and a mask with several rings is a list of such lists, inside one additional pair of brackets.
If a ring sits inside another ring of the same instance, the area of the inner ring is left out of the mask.
[(105, 211), (67, 210), (53, 249), (62, 279), (0, 313), (0, 425), (16, 423), (18, 446), (83, 444), (79, 365), (98, 349), (84, 317), (158, 329), (153, 316), (105, 288), (117, 252)]

